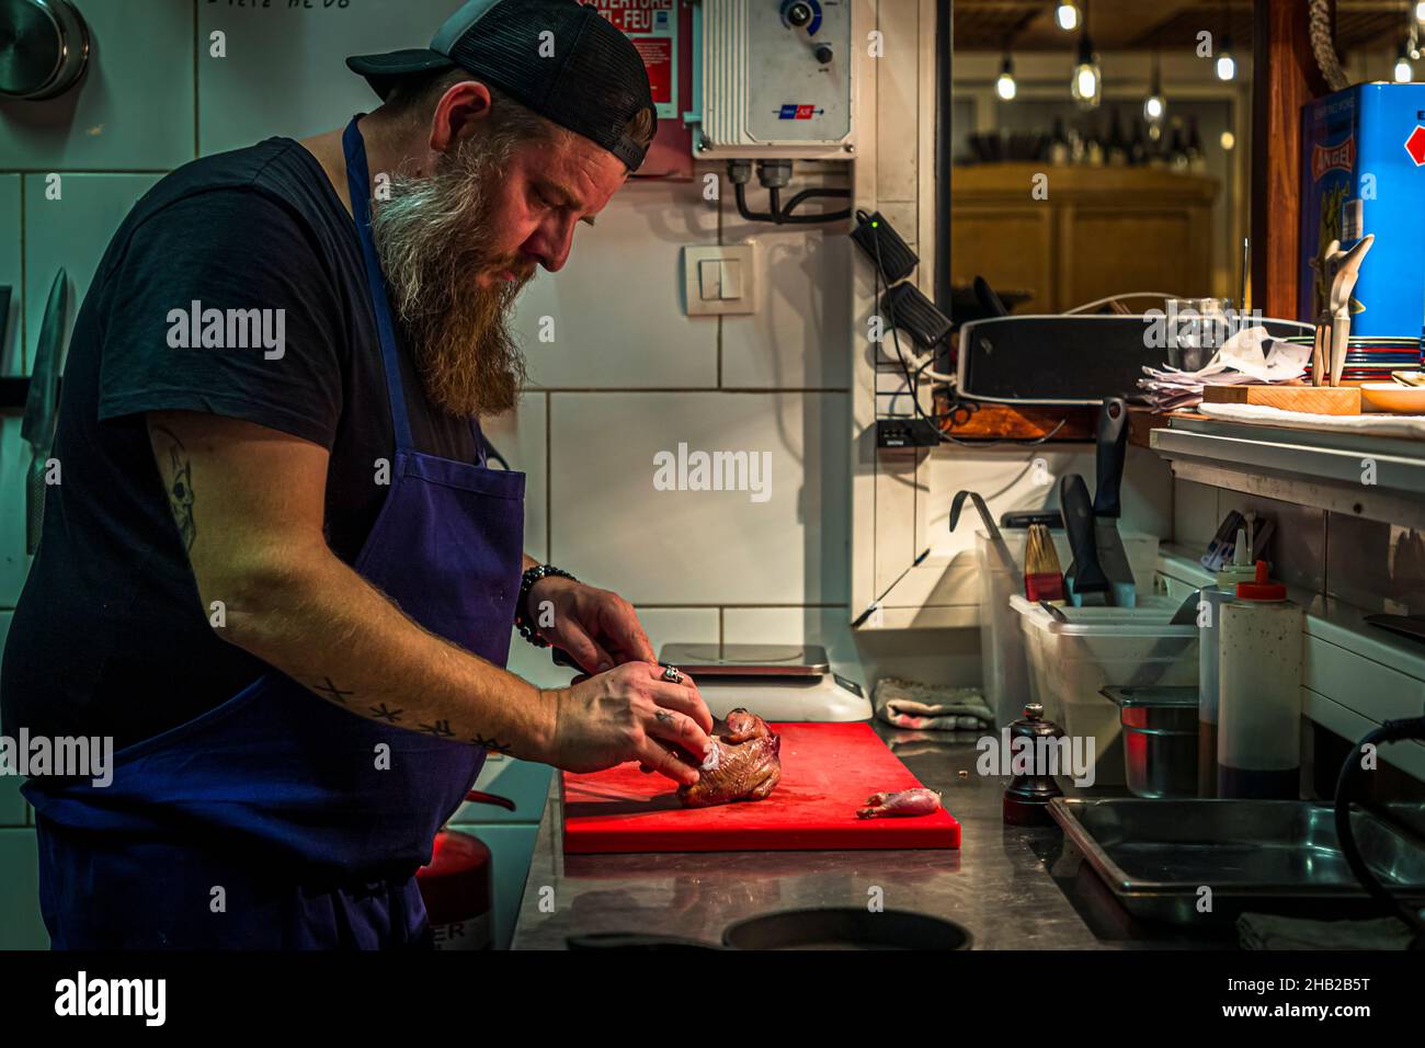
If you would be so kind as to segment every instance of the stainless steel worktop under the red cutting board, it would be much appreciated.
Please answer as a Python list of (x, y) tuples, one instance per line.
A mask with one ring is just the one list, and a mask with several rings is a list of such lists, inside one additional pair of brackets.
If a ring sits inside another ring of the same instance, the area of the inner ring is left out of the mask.
[[(561, 950), (567, 935), (593, 931), (718, 942), (722, 930), (744, 917), (795, 907), (862, 907), (875, 893), (886, 910), (958, 921), (980, 950), (1224, 945), (1136, 924), (1057, 827), (1006, 827), (1000, 803), (1007, 780), (976, 774), (973, 734), (916, 741), (916, 733), (885, 724), (876, 731), (922, 783), (945, 794), (945, 807), (963, 827), (959, 851), (566, 857), (554, 776), (513, 948)], [(962, 779), (960, 770), (969, 774)]]

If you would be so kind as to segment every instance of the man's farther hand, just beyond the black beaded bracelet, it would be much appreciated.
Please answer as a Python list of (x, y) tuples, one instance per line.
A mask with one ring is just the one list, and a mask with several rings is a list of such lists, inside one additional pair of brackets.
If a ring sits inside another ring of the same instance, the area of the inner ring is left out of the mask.
[(550, 575), (530, 587), (524, 612), (544, 640), (590, 673), (657, 662), (633, 605), (607, 589)]

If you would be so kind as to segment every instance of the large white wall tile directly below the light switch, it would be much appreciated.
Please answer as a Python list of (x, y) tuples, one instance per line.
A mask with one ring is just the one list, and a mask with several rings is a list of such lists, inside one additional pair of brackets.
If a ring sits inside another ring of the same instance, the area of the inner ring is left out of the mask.
[[(634, 603), (845, 603), (846, 401), (554, 394), (550, 556)], [(698, 452), (742, 453), (745, 489), (693, 490)]]

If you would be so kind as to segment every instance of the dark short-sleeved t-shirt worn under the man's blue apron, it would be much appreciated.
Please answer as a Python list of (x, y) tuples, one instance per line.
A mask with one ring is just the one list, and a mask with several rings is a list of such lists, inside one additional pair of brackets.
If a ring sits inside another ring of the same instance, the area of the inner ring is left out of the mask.
[[(185, 339), (174, 311), (194, 302), (282, 309), (281, 356), (251, 344), (175, 348)], [(403, 368), (416, 446), (475, 462), (470, 423), (429, 405), (405, 356)], [(328, 542), (356, 560), (388, 490), (386, 378), (356, 230), (291, 138), (185, 164), (134, 205), (104, 254), (68, 348), (53, 451), (61, 482), (47, 492), (6, 644), (4, 733), (113, 736), (123, 747), (268, 669), (208, 625), (144, 422), (168, 409), (325, 446)]]

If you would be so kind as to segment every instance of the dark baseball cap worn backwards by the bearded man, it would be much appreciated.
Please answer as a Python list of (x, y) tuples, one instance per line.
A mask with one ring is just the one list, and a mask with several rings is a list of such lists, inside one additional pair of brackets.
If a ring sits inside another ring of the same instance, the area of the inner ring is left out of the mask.
[(626, 131), (653, 108), (648, 74), (633, 41), (574, 0), (469, 0), (430, 40), (346, 67), (382, 97), (412, 73), (460, 67), (542, 117), (613, 153), (630, 171), (648, 147)]

